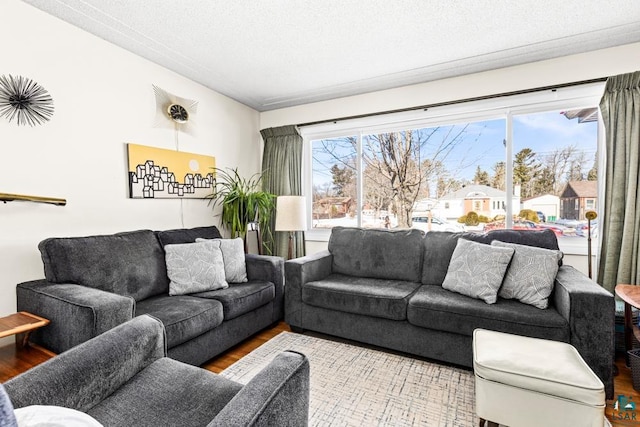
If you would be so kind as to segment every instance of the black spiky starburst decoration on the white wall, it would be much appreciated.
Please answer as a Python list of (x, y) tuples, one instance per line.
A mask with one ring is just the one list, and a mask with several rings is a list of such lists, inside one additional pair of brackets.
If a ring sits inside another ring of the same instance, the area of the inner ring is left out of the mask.
[(53, 98), (38, 83), (22, 76), (0, 76), (0, 117), (18, 126), (41, 125), (53, 116)]

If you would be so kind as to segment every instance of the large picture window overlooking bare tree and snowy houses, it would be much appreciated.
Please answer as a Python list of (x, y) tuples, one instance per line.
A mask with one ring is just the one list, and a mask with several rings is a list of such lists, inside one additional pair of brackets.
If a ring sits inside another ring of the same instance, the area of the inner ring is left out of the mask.
[(598, 209), (598, 89), (303, 129), (310, 232), (551, 228), (559, 239), (582, 237), (585, 212)]

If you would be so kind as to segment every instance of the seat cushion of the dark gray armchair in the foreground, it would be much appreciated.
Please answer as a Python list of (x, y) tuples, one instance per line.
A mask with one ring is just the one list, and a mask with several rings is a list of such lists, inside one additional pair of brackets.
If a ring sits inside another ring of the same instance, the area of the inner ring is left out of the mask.
[(206, 426), (241, 388), (205, 369), (164, 357), (87, 413), (105, 426)]

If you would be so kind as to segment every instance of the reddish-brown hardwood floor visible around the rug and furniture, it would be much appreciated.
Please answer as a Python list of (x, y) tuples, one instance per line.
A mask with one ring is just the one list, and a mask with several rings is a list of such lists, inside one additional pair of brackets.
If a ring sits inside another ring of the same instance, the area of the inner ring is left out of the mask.
[[(203, 365), (203, 368), (219, 373), (283, 331), (290, 331), (290, 328), (286, 323), (280, 322), (210, 360)], [(0, 348), (0, 382), (13, 378), (51, 356), (53, 356), (52, 353), (39, 347), (17, 349), (15, 345), (8, 345)], [(627, 412), (614, 411), (614, 401), (607, 401), (606, 416), (613, 427), (640, 427), (640, 392), (633, 388), (631, 370), (625, 366), (623, 356), (618, 356), (616, 366), (619, 372), (614, 381), (616, 396), (623, 395), (626, 399), (631, 399), (638, 409)]]

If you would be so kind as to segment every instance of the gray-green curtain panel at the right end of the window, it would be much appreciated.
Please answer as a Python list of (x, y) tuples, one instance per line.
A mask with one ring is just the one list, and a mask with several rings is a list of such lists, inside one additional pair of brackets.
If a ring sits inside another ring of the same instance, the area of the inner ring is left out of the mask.
[(600, 101), (606, 135), (598, 282), (640, 284), (640, 71), (609, 77)]

